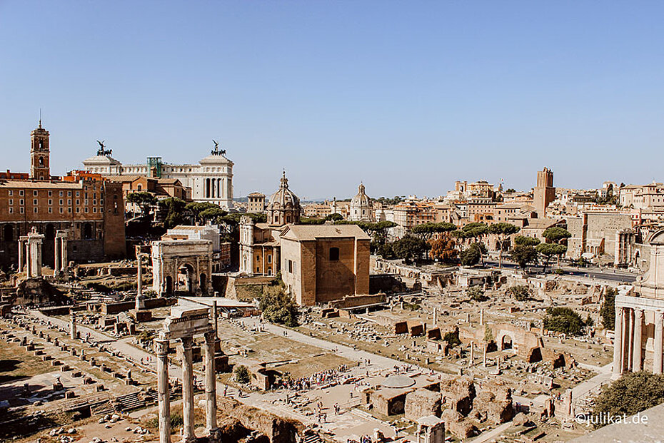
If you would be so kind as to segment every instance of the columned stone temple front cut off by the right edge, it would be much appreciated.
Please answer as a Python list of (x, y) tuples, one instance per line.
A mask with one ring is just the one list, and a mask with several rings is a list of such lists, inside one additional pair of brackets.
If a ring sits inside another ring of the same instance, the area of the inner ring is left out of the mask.
[(664, 230), (650, 236), (648, 270), (615, 297), (613, 377), (623, 372), (663, 372)]

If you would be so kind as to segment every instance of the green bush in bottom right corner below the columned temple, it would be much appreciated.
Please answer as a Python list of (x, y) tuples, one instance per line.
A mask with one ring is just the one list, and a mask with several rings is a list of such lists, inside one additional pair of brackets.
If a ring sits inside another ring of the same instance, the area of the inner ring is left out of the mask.
[[(595, 417), (630, 416), (664, 402), (664, 375), (649, 372), (625, 372), (618, 380), (603, 387), (595, 398)], [(593, 420), (595, 428), (605, 423)]]

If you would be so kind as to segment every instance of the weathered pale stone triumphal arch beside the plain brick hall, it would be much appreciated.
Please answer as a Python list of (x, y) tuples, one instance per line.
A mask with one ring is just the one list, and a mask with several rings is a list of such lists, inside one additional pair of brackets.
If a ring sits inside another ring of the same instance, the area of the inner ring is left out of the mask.
[(152, 289), (159, 295), (210, 295), (212, 282), (210, 240), (152, 242)]

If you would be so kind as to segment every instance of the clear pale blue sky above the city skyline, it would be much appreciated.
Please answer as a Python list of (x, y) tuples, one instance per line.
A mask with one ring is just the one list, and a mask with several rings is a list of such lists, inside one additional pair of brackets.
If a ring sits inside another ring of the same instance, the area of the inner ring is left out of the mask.
[(221, 140), (236, 196), (663, 180), (662, 1), (0, 0), (0, 169)]

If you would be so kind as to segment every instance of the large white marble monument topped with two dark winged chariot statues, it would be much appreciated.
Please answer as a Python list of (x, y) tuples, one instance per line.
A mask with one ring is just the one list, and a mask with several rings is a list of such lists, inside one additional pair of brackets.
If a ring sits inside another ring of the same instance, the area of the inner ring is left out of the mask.
[(149, 157), (140, 165), (123, 165), (111, 157), (103, 145), (96, 156), (83, 161), (85, 170), (104, 176), (144, 175), (157, 179), (176, 179), (185, 188), (191, 188), (191, 199), (209, 202), (226, 210), (233, 208), (233, 162), (226, 151), (218, 149), (196, 164), (174, 165), (164, 163), (161, 157)]

